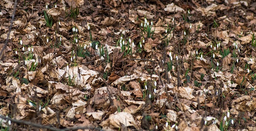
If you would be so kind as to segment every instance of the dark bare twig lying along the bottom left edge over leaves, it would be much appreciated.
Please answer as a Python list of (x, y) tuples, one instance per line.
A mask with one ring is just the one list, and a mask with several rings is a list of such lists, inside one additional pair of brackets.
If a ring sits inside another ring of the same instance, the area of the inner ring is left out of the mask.
[(42, 129), (49, 129), (51, 131), (73, 131), (73, 130), (78, 130), (78, 129), (92, 129), (92, 130), (96, 130), (96, 131), (103, 131), (102, 129), (96, 128), (96, 127), (73, 127), (73, 128), (57, 129), (57, 128), (49, 127), (49, 126), (46, 126), (46, 125), (32, 123), (30, 121), (11, 119), (11, 118), (8, 118), (8, 117), (4, 117), (2, 115), (0, 115), (0, 118), (6, 119), (8, 121), (10, 120), (14, 123), (30, 125), (30, 126), (37, 127), (37, 128), (42, 128)]

